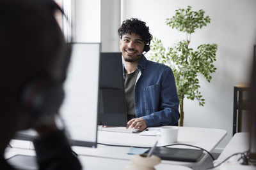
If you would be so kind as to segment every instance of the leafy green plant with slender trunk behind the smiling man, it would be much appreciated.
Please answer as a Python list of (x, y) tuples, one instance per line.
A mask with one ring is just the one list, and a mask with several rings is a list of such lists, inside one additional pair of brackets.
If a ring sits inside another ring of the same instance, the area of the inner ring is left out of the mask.
[(184, 121), (184, 98), (197, 99), (200, 106), (204, 106), (205, 99), (199, 91), (198, 74), (202, 74), (207, 81), (211, 81), (211, 73), (216, 71), (213, 62), (216, 60), (217, 45), (202, 44), (194, 50), (189, 47), (191, 34), (196, 29), (210, 23), (211, 18), (204, 16), (203, 10), (192, 11), (191, 6), (178, 9), (172, 18), (166, 18), (166, 25), (172, 29), (186, 33), (186, 39), (179, 41), (172, 47), (165, 48), (161, 39), (152, 39), (152, 53), (150, 59), (161, 62), (173, 70), (177, 93), (180, 99), (179, 125)]

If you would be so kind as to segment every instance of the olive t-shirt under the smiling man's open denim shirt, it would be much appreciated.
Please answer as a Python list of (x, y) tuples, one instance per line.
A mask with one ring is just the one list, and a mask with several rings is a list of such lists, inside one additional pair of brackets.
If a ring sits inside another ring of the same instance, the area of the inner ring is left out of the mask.
[(134, 110), (134, 85), (138, 76), (139, 70), (125, 74), (124, 88), (125, 88), (125, 103), (126, 103), (126, 113), (128, 121), (135, 118)]

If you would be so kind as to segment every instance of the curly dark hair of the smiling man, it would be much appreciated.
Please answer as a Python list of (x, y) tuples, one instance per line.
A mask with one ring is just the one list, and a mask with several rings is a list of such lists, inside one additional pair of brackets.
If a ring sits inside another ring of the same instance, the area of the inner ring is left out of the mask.
[(149, 32), (149, 28), (146, 23), (138, 20), (138, 18), (131, 18), (124, 20), (121, 27), (118, 29), (118, 36), (122, 39), (124, 34), (138, 34), (144, 41), (145, 45), (150, 45), (152, 34)]

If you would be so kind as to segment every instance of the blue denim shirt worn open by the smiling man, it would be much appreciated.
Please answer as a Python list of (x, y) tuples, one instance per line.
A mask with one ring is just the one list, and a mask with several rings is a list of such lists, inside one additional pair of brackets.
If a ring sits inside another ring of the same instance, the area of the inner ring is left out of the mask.
[(143, 55), (134, 87), (136, 118), (143, 118), (148, 127), (177, 124), (179, 97), (172, 69), (164, 64), (147, 60)]

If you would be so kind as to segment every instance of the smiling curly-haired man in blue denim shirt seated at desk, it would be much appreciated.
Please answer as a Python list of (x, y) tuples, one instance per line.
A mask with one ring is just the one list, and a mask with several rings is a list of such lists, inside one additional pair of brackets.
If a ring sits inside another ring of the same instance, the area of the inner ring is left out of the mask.
[(176, 125), (179, 98), (172, 69), (147, 60), (152, 35), (137, 18), (125, 20), (118, 29), (124, 62), (127, 128), (143, 131), (147, 127)]

